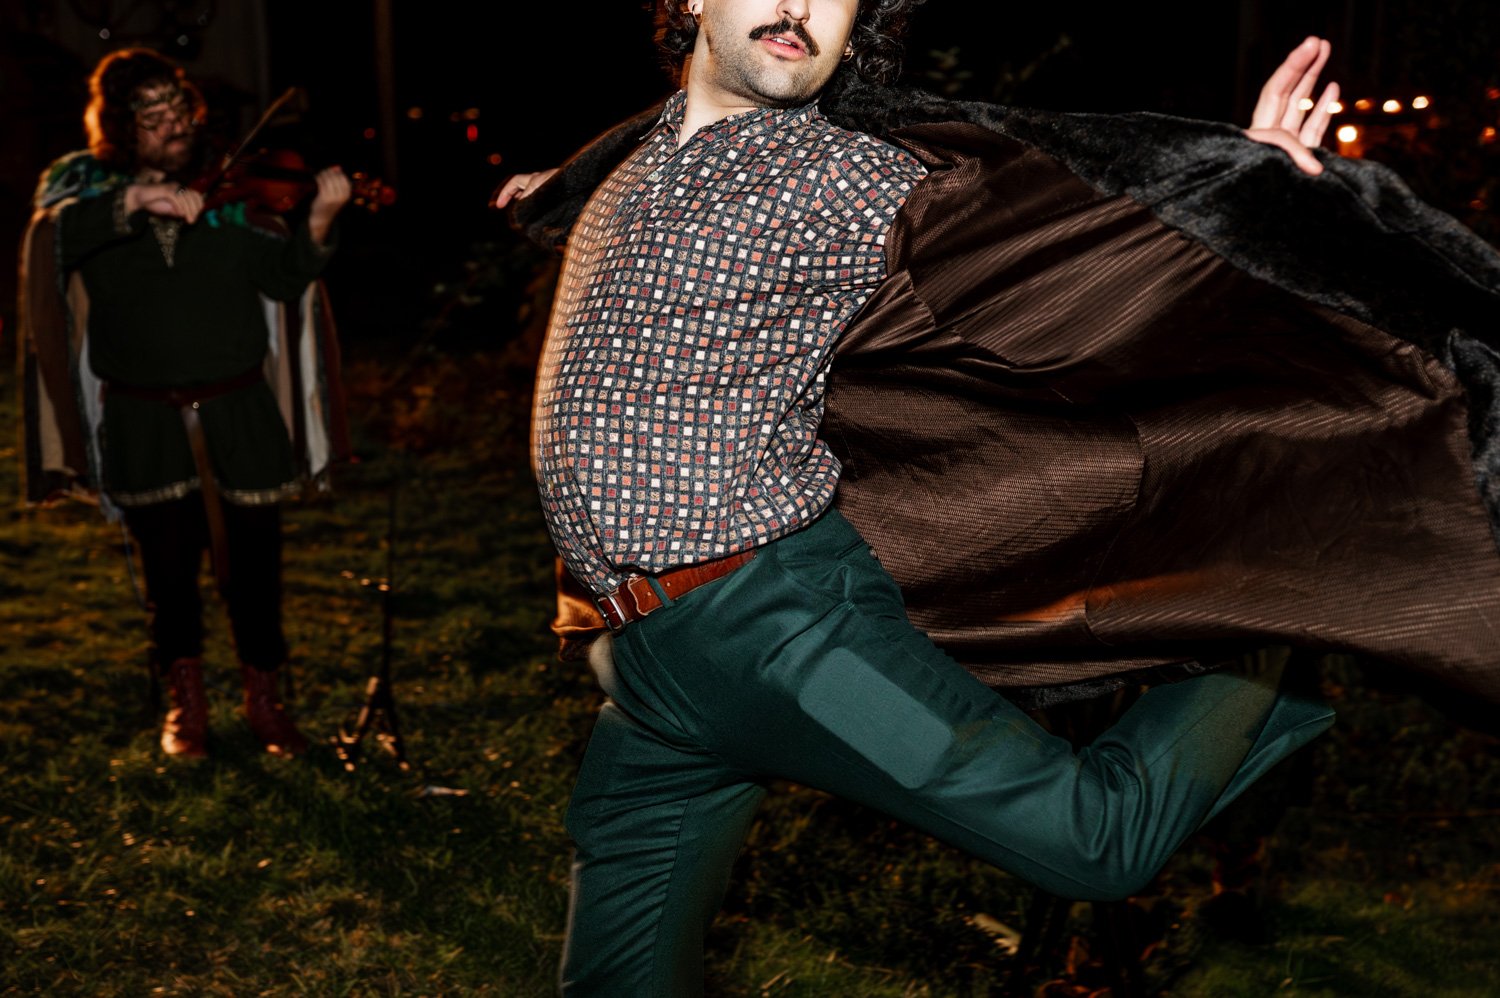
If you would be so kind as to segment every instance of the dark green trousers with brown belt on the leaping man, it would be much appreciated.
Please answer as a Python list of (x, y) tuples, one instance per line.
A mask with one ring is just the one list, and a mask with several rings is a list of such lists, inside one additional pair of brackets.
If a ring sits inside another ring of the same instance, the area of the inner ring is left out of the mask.
[(1280, 668), (1156, 687), (1076, 752), (906, 618), (838, 513), (614, 641), (567, 813), (566, 995), (696, 995), (765, 782), (868, 804), (1046, 890), (1143, 887), (1206, 818), (1332, 723)]

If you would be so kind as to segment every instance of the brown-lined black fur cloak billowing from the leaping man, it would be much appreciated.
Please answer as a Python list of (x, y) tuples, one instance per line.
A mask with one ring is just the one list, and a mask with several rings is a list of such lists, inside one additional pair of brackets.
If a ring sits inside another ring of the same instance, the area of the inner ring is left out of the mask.
[[(1500, 702), (1500, 255), (1377, 164), (849, 86), (928, 167), (846, 330), (838, 507), (1030, 702), (1246, 644)], [(560, 245), (648, 111), (514, 221)], [(560, 633), (594, 621), (564, 603)]]

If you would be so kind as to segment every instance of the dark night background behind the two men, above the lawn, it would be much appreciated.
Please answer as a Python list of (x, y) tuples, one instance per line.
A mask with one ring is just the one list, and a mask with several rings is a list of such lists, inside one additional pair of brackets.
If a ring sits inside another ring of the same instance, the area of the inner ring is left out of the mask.
[[(656, 101), (668, 92), (668, 78), (656, 63), (650, 14), (636, 0), (566, 8), (390, 3), (392, 59), (384, 74), (374, 27), (382, 6), (6, 0), (0, 8), (0, 93), (6, 95), (0, 125), (10, 141), (9, 152), (0, 153), (0, 225), (18, 233), (36, 171), (81, 144), (84, 75), (108, 44), (78, 51), (82, 47), (74, 35), (64, 39), (68, 48), (58, 42), (58, 26), (80, 18), (99, 24), (130, 12), (132, 30), (117, 29), (111, 44), (154, 44), (182, 56), (219, 111), (228, 113), (225, 132), (254, 120), (268, 96), (298, 86), (306, 93), (304, 113), (268, 138), (296, 144), (314, 164), (396, 174), (393, 209), (378, 216), (346, 213), (344, 252), (328, 276), (345, 336), (414, 335), (423, 317), (441, 308), (434, 288), (474, 284), (476, 261), (500, 260), (501, 272), (525, 266), (507, 257), (519, 251), (504, 219), (484, 209), (488, 194), (508, 173), (556, 164)], [(158, 20), (142, 20), (142, 9), (159, 9)], [(980, 9), (987, 17), (976, 17)], [(249, 23), (256, 30), (226, 38), (243, 32), (230, 24), (231, 11), (237, 17), (252, 11)], [(1248, 123), (1260, 81), (1298, 41), (1320, 33), (1335, 47), (1326, 78), (1341, 81), (1348, 98), (1430, 93), (1437, 110), (1449, 111), (1444, 120), (1462, 122), (1460, 155), (1434, 155), (1432, 164), (1410, 170), (1464, 173), (1456, 180), (1437, 177), (1428, 195), (1462, 215), (1479, 182), (1473, 135), (1494, 119), (1485, 89), (1496, 83), (1497, 24), (1500, 5), (1484, 2), (981, 8), (930, 0), (914, 29), (908, 69), (914, 83), (957, 96)], [(260, 50), (261, 95), (226, 86), (207, 59), (246, 45)], [(393, 147), (380, 132), (382, 78), (394, 92)], [(414, 108), (420, 119), (410, 117)], [(388, 162), (392, 153), (394, 162)], [(1473, 162), (1462, 162), (1466, 156)], [(1444, 180), (1455, 189), (1443, 189)], [(10, 318), (9, 258), (4, 272), (0, 315)], [(489, 279), (524, 284), (506, 273)], [(492, 300), (470, 318), (489, 323), (489, 335), (501, 338), (508, 335), (502, 326), (513, 320), (512, 306), (512, 300)], [(471, 336), (482, 332), (476, 326)]]

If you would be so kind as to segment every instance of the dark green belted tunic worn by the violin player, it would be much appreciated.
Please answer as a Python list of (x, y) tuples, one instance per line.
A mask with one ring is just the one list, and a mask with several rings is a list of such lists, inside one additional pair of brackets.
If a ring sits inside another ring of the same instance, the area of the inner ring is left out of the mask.
[[(106, 384), (204, 386), (266, 360), (267, 302), (296, 302), (328, 251), (306, 225), (290, 239), (246, 221), (240, 206), (195, 225), (124, 215), (124, 189), (66, 204), (58, 263), (88, 294), (88, 366)], [(288, 306), (294, 308), (294, 306)], [(286, 425), (270, 387), (255, 383), (200, 408), (214, 480), (236, 503), (297, 491)], [(159, 401), (105, 390), (104, 476), (110, 498), (140, 506), (198, 488), (180, 413)]]

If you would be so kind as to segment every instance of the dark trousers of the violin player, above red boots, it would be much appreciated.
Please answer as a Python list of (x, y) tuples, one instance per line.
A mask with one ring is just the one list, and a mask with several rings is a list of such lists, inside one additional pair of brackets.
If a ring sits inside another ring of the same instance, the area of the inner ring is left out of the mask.
[[(230, 626), (240, 660), (274, 669), (286, 660), (280, 624), (280, 506), (224, 503), (230, 543)], [(134, 506), (124, 524), (141, 548), (146, 599), (156, 660), (202, 656), (202, 597), (198, 575), (208, 549), (208, 521), (196, 492), (180, 500)]]

